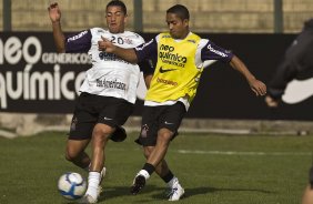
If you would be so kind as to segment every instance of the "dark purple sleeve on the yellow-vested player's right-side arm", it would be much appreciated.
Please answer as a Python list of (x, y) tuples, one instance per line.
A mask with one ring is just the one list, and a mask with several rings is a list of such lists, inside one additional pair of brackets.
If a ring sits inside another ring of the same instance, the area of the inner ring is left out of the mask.
[(218, 60), (223, 62), (230, 62), (233, 58), (233, 53), (215, 45), (212, 41), (208, 40), (206, 44), (201, 49), (201, 60)]

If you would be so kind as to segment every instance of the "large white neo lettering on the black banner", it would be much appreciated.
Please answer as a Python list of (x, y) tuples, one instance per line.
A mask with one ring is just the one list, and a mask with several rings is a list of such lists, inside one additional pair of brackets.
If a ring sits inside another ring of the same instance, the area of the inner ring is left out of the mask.
[[(30, 48), (34, 47), (36, 52), (33, 55), (30, 53)], [(4, 60), (9, 64), (17, 64), (24, 58), (28, 64), (34, 64), (40, 60), (42, 47), (38, 38), (29, 37), (22, 44), (19, 38), (10, 37), (4, 43), (0, 39), (0, 64)]]

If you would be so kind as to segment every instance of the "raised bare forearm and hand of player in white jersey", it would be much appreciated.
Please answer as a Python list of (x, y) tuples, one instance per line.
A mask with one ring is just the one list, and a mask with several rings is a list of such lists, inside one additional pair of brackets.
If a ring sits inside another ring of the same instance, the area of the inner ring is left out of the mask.
[(48, 7), (49, 17), (52, 23), (54, 43), (58, 52), (65, 52), (65, 37), (61, 29), (61, 10), (57, 2)]

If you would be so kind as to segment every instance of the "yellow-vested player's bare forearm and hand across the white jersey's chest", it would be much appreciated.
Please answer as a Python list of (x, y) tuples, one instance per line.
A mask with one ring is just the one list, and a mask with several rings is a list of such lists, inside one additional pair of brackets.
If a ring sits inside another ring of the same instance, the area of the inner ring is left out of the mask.
[(138, 58), (133, 49), (123, 49), (114, 45), (110, 40), (101, 37), (102, 40), (98, 41), (98, 48), (107, 53), (113, 53), (121, 59), (130, 62), (138, 63)]

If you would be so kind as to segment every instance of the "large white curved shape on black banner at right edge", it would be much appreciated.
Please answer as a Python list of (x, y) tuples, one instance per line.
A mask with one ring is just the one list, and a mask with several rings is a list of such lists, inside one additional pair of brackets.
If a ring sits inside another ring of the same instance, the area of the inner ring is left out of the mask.
[(287, 83), (282, 100), (285, 103), (300, 103), (313, 95), (313, 78), (307, 80), (292, 80)]

